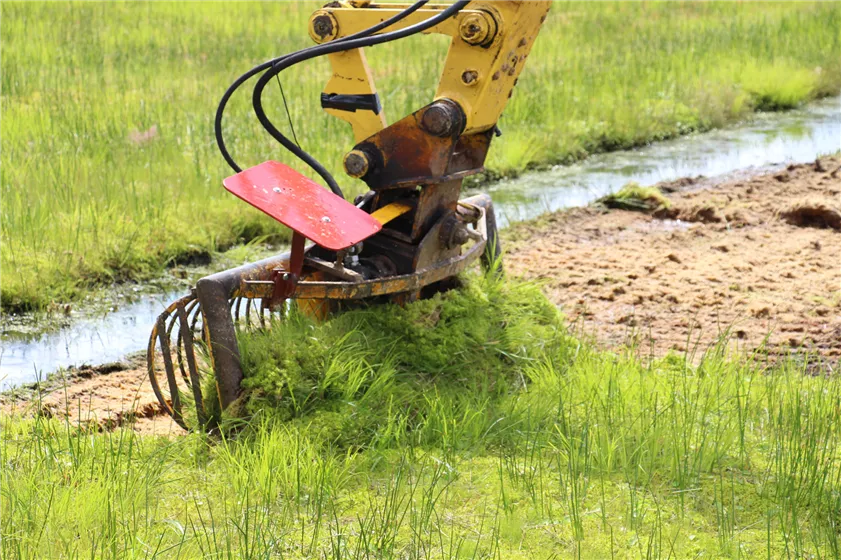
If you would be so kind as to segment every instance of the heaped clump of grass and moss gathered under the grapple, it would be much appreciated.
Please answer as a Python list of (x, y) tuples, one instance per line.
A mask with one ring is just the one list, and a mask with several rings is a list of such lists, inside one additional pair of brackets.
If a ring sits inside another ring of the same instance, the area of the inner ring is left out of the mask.
[(543, 359), (563, 333), (539, 288), (490, 277), (323, 323), (295, 315), (241, 335), (245, 410), (311, 425), (343, 447), (404, 437), (441, 445), (442, 407), (447, 416), (492, 418), (492, 403), (522, 388), (523, 365)]

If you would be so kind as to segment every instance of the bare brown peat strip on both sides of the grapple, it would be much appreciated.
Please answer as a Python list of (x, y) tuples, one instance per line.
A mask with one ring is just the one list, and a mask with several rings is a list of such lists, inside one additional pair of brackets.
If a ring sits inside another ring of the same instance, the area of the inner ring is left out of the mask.
[[(580, 332), (645, 354), (731, 347), (841, 357), (841, 158), (725, 182), (659, 185), (668, 208), (599, 205), (503, 233), (509, 273), (538, 279)], [(183, 431), (162, 412), (142, 359), (72, 370), (40, 398), (0, 397), (0, 412), (108, 429)]]

